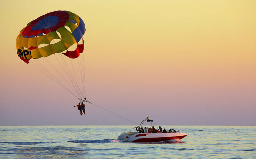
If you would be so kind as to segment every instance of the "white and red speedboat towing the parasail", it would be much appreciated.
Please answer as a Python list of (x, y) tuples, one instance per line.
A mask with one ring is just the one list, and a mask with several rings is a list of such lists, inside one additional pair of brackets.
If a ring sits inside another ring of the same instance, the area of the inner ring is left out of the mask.
[[(146, 127), (141, 131), (143, 123), (151, 122), (150, 127)], [(124, 142), (159, 142), (159, 141), (167, 141), (173, 139), (182, 139), (188, 134), (177, 131), (177, 132), (160, 132), (155, 131), (152, 132), (154, 122), (150, 120), (148, 117), (140, 123), (140, 126), (133, 127), (130, 132), (124, 132), (117, 137), (117, 140)], [(132, 132), (135, 129), (136, 131)]]

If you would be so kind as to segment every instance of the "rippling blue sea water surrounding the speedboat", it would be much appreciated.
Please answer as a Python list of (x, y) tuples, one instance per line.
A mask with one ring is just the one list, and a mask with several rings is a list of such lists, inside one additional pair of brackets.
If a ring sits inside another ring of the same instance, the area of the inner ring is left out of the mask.
[(0, 158), (256, 158), (256, 126), (161, 126), (188, 135), (127, 143), (116, 138), (134, 126), (0, 126)]

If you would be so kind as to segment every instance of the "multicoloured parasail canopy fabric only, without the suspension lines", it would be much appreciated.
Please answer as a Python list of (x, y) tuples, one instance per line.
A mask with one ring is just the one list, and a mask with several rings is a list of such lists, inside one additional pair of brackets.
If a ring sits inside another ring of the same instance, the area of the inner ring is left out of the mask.
[(84, 50), (84, 21), (70, 11), (54, 11), (32, 20), (16, 39), (18, 56), (26, 63), (55, 53), (75, 59)]

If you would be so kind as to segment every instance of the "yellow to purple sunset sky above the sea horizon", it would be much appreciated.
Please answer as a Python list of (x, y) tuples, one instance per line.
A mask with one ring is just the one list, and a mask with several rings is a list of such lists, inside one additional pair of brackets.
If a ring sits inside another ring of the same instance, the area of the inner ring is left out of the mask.
[(256, 1), (1, 1), (0, 125), (132, 125), (20, 60), (31, 20), (85, 22), (86, 97), (136, 123), (256, 125)]

